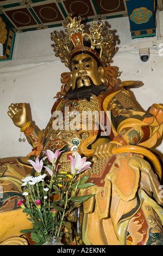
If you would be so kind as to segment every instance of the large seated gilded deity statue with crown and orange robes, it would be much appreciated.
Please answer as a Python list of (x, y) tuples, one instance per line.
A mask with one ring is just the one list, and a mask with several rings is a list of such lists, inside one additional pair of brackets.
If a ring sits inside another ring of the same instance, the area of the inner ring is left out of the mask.
[(65, 38), (51, 33), (55, 56), (70, 72), (61, 74), (63, 85), (45, 130), (28, 119), (26, 105), (9, 106), (8, 115), (33, 150), (26, 158), (0, 159), (0, 224), (3, 216), (15, 216), (17, 227), (9, 230), (12, 223), (7, 227), (6, 218), (0, 243), (30, 226), (16, 204), (22, 198), (22, 177), (33, 171), (27, 160), (59, 149), (62, 171), (70, 169), (70, 156), (76, 152), (92, 162), (83, 175), (95, 185), (80, 189), (79, 195), (95, 197), (77, 209), (78, 215), (74, 211), (69, 216), (83, 245), (163, 245), (162, 170), (150, 150), (162, 136), (163, 106), (137, 109), (128, 88), (142, 83), (121, 81), (118, 69), (110, 66), (115, 50), (111, 31), (93, 21), (86, 33), (81, 20), (68, 15)]

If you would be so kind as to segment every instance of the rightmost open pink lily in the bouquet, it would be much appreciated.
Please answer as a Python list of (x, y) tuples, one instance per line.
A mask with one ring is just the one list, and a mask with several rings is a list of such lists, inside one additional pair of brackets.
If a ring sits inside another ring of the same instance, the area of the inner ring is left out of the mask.
[(71, 159), (71, 172), (72, 174), (78, 174), (90, 168), (91, 162), (86, 162), (86, 157), (81, 157), (79, 153), (74, 156), (70, 156)]

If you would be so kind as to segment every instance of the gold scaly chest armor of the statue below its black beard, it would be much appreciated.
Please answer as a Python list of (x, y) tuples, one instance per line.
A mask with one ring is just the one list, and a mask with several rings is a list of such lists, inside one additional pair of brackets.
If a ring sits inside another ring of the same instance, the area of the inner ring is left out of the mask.
[(90, 102), (86, 99), (63, 99), (46, 128), (45, 149), (65, 152), (78, 150), (80, 141), (86, 139), (88, 134), (81, 136), (77, 131), (87, 129), (88, 124), (92, 128), (92, 121), (99, 118), (101, 98), (101, 95), (92, 96)]

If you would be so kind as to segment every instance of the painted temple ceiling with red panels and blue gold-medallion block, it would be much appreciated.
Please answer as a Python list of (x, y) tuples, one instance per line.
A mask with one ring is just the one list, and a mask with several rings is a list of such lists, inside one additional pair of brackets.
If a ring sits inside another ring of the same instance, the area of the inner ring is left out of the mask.
[(128, 17), (131, 38), (151, 37), (156, 34), (157, 9), (163, 10), (163, 0), (0, 0), (0, 32), (6, 36), (4, 23), (7, 37), (11, 31), (59, 27), (72, 13), (83, 22)]

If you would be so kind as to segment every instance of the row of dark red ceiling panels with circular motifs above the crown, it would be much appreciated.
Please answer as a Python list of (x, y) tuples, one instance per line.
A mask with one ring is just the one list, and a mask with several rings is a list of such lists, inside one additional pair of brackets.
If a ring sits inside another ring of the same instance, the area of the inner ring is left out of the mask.
[(0, 0), (0, 16), (15, 32), (61, 26), (68, 13), (83, 21), (126, 16), (124, 0)]

